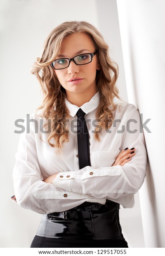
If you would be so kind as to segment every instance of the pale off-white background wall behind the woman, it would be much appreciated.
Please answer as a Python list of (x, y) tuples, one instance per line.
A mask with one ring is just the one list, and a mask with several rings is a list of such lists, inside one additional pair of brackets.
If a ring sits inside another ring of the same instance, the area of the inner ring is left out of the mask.
[[(55, 26), (67, 20), (86, 20), (110, 45), (110, 54), (119, 64), (120, 96), (127, 100), (118, 14), (115, 0), (1, 0), (0, 12), (0, 247), (30, 247), (40, 214), (21, 209), (10, 197), (14, 194), (12, 169), (19, 141), (14, 121), (33, 113), (42, 101), (31, 66), (41, 56), (44, 40)], [(120, 215), (130, 247), (143, 247), (138, 195), (134, 209), (121, 209)]]

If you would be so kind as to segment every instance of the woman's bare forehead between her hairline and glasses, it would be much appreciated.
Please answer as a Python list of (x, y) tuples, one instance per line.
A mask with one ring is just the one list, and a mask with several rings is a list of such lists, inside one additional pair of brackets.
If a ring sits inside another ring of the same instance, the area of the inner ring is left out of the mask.
[(61, 43), (59, 55), (70, 56), (83, 52), (94, 52), (94, 43), (90, 36), (86, 33), (74, 33), (66, 38)]

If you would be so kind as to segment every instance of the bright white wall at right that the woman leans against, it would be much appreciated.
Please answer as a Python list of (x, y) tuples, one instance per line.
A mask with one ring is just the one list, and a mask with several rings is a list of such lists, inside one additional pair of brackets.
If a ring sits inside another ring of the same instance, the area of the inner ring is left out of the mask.
[(143, 120), (148, 170), (140, 191), (146, 247), (165, 247), (165, 1), (117, 0), (128, 100)]

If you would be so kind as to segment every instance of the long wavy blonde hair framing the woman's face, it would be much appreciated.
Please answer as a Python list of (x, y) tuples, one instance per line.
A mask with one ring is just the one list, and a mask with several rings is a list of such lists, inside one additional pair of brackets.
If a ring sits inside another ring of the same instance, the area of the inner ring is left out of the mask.
[[(113, 122), (112, 111), (115, 110), (114, 97), (118, 96), (118, 88), (115, 83), (118, 78), (118, 65), (111, 61), (108, 54), (108, 45), (99, 31), (86, 21), (67, 21), (50, 33), (44, 43), (41, 58), (37, 58), (33, 64), (31, 73), (39, 80), (44, 96), (39, 116), (49, 121), (51, 119), (51, 132), (48, 137), (50, 146), (58, 149), (62, 148), (63, 142), (68, 141), (68, 129), (66, 119), (69, 119), (70, 113), (65, 104), (66, 91), (59, 83), (57, 76), (50, 64), (59, 54), (61, 43), (66, 36), (73, 33), (84, 32), (90, 36), (96, 47), (97, 58), (100, 70), (97, 70), (96, 85), (100, 96), (100, 104), (97, 108), (96, 118), (98, 126), (95, 130), (95, 138), (100, 140), (102, 129), (110, 128)], [(111, 107), (110, 107), (111, 106)], [(45, 124), (47, 126), (48, 124)], [(100, 130), (100, 127), (102, 129)], [(50, 142), (54, 139), (55, 143)]]

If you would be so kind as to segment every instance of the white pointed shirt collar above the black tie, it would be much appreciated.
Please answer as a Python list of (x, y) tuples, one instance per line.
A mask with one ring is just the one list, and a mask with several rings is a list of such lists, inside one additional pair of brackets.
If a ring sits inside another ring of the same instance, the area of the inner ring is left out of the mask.
[(93, 111), (94, 109), (96, 109), (99, 106), (99, 102), (100, 102), (100, 97), (99, 97), (99, 92), (97, 92), (91, 99), (89, 102), (86, 102), (85, 104), (83, 104), (81, 107), (78, 107), (76, 105), (71, 104), (71, 102), (69, 102), (67, 99), (65, 99), (65, 104), (66, 107), (69, 109), (70, 111), (70, 115), (71, 116), (75, 116), (75, 114), (77, 113), (78, 109), (82, 109), (82, 111), (84, 111), (86, 114), (90, 113), (91, 111)]

